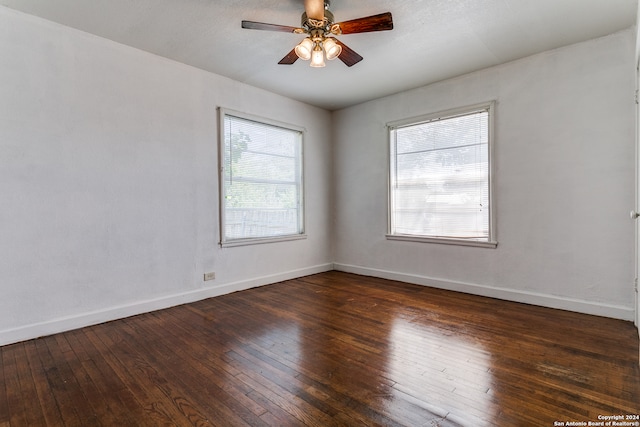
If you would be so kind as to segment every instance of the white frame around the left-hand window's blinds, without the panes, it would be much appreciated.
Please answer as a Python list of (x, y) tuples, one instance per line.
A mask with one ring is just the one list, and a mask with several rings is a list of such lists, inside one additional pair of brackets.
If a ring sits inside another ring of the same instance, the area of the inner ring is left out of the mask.
[[(224, 153), (225, 153), (225, 117), (236, 117), (243, 120), (256, 122), (258, 124), (264, 124), (266, 126), (274, 126), (298, 132), (300, 134), (300, 153), (298, 163), (298, 224), (299, 232), (295, 234), (286, 234), (278, 236), (265, 236), (265, 237), (249, 237), (249, 238), (227, 238), (225, 233), (226, 224), (226, 194), (225, 194), (225, 165), (224, 165)], [(267, 119), (264, 117), (255, 116), (239, 111), (234, 111), (228, 108), (218, 108), (218, 185), (219, 185), (219, 207), (220, 207), (220, 246), (233, 247), (244, 245), (255, 245), (263, 243), (283, 242), (290, 240), (306, 239), (306, 215), (305, 215), (305, 197), (304, 197), (304, 135), (305, 129), (300, 126), (295, 126), (289, 123), (280, 122), (277, 120)]]

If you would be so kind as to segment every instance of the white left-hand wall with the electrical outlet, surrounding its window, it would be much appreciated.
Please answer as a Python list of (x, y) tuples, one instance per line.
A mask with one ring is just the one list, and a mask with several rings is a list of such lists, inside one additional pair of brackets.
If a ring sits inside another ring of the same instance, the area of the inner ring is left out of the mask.
[[(0, 344), (332, 267), (328, 112), (6, 8), (0, 58)], [(308, 239), (218, 246), (218, 106), (306, 128)]]

